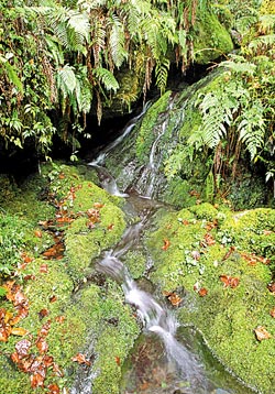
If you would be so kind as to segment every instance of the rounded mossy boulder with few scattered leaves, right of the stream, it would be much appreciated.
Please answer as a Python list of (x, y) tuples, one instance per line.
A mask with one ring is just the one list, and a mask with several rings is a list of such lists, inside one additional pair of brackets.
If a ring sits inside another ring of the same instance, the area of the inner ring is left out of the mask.
[(156, 219), (147, 233), (161, 291), (183, 297), (178, 318), (248, 386), (274, 387), (273, 209), (218, 211), (209, 204)]

